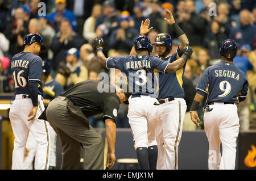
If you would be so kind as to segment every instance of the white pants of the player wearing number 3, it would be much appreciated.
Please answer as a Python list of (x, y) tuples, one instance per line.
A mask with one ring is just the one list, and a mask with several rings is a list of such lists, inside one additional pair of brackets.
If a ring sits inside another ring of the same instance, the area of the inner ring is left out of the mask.
[(155, 128), (158, 120), (158, 100), (150, 96), (141, 95), (129, 98), (127, 117), (134, 137), (134, 148), (154, 146), (156, 144)]

